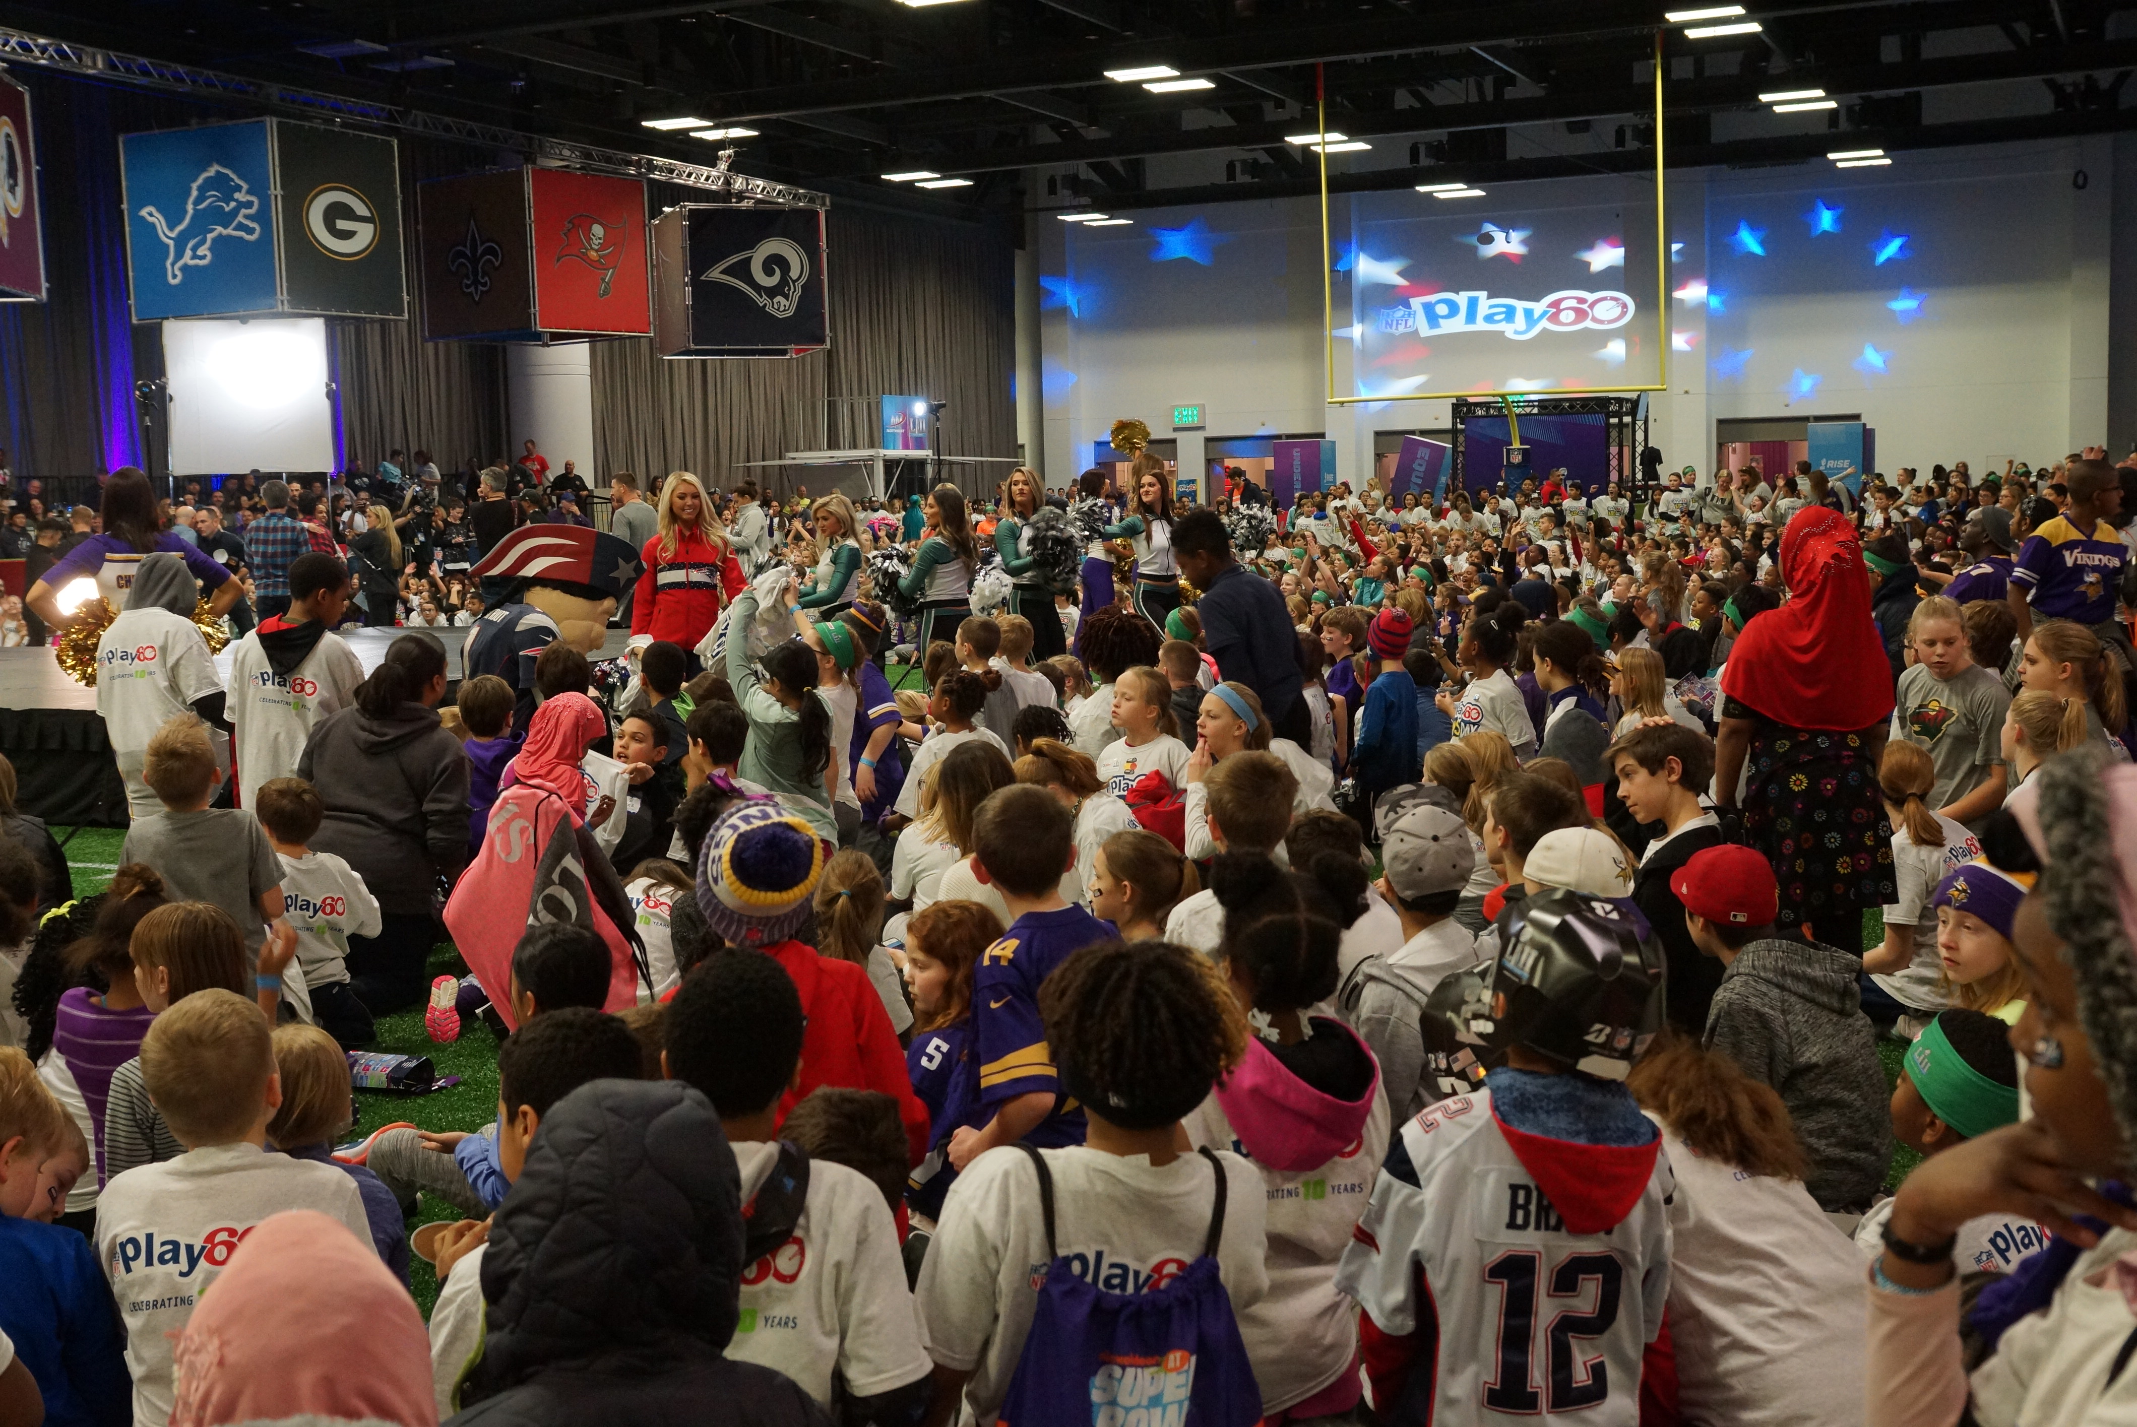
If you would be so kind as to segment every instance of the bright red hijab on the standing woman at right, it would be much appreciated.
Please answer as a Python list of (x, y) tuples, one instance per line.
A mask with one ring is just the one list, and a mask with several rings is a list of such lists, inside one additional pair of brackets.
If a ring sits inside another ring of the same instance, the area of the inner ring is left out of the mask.
[(1722, 692), (1791, 728), (1868, 728), (1891, 716), (1891, 664), (1846, 517), (1804, 506), (1780, 536), (1789, 600), (1744, 626)]

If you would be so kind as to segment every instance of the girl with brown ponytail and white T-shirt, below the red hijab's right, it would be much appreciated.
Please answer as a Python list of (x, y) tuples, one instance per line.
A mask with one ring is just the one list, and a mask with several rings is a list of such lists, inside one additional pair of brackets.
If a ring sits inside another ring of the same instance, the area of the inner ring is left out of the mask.
[(1885, 944), (1863, 953), (1863, 972), (1874, 985), (1863, 989), (1863, 1010), (1876, 1021), (1902, 1015), (1928, 1019), (1949, 1004), (1936, 955), (1936, 884), (1953, 867), (1981, 857), (1981, 842), (1930, 807), (1936, 765), (1928, 750), (1885, 743), (1876, 782), (1893, 827), (1891, 867), (1900, 899), (1885, 908)]

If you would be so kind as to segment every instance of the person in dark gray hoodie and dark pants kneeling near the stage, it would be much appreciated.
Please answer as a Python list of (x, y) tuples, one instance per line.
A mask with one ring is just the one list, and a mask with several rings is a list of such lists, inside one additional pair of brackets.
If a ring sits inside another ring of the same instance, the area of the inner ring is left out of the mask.
[(297, 758), (327, 805), (312, 848), (346, 859), (378, 897), (378, 936), (348, 938), (348, 983), (374, 1015), (423, 1000), (438, 878), (468, 857), (468, 754), (438, 722), (442, 696), (444, 645), (402, 634)]

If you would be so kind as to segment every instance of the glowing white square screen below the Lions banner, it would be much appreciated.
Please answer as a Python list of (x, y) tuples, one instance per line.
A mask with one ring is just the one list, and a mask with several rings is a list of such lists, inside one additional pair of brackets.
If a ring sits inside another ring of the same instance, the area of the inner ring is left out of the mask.
[(333, 470), (325, 318), (171, 320), (171, 472)]

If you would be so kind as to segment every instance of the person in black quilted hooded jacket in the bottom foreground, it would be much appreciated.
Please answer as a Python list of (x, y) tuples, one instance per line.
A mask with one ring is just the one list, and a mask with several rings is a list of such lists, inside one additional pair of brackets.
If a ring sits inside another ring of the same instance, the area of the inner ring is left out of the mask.
[(829, 1427), (791, 1378), (729, 1363), (742, 1179), (682, 1081), (551, 1107), (483, 1252), (489, 1303), (453, 1427)]

